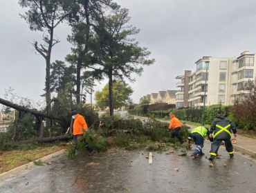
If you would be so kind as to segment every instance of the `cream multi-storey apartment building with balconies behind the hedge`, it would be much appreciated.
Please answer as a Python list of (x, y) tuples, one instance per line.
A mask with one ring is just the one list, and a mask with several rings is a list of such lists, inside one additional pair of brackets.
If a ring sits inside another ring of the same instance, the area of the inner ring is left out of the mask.
[[(188, 82), (185, 76), (176, 77), (181, 79), (181, 83), (176, 83), (176, 87), (181, 88), (180, 93), (176, 92), (176, 108), (181, 108), (182, 103), (183, 107), (202, 107), (204, 100), (206, 106), (219, 103), (232, 105), (235, 97), (241, 97), (248, 80), (255, 79), (254, 58), (255, 54), (244, 51), (239, 57), (199, 59), (195, 62), (196, 71), (190, 74)], [(188, 94), (185, 92), (186, 85)], [(179, 95), (182, 89), (183, 96)]]

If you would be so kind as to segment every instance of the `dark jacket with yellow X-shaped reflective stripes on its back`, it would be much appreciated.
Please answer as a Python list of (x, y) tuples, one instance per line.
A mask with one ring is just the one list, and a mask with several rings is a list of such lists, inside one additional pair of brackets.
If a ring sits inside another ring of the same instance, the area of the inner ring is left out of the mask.
[(210, 125), (210, 132), (214, 132), (214, 139), (231, 139), (231, 130), (236, 134), (235, 123), (224, 114), (217, 116)]

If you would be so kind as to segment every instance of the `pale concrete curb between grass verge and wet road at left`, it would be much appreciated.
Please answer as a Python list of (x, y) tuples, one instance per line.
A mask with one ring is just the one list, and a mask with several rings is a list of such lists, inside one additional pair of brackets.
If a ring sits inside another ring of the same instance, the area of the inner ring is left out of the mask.
[[(41, 161), (46, 161), (48, 159), (53, 158), (53, 156), (59, 156), (61, 154), (64, 154), (66, 152), (66, 150), (60, 150), (59, 152), (55, 152), (53, 154), (49, 154), (48, 156), (44, 156), (42, 158), (39, 158)], [(38, 161), (39, 159), (35, 160)], [(6, 179), (8, 176), (11, 176), (13, 174), (17, 174), (18, 172), (21, 172), (22, 170), (28, 170), (29, 167), (32, 167), (33, 165), (35, 165), (33, 163), (33, 161), (31, 161), (30, 163), (26, 163), (24, 165), (21, 165), (19, 167), (15, 167), (14, 169), (8, 171), (8, 172), (4, 172), (3, 174), (0, 174), (0, 181), (3, 179)]]

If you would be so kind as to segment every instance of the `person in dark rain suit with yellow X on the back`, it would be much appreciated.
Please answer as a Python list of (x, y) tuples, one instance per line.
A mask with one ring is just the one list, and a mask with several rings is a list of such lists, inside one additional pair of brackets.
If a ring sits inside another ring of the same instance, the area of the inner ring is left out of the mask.
[(212, 136), (212, 132), (214, 132), (214, 140), (212, 141), (209, 160), (215, 158), (222, 141), (225, 142), (226, 150), (230, 155), (230, 158), (234, 157), (233, 146), (231, 143), (231, 130), (233, 131), (234, 136), (237, 137), (235, 123), (228, 119), (228, 117), (223, 114), (223, 111), (220, 110), (217, 118), (214, 119), (210, 125), (210, 136)]

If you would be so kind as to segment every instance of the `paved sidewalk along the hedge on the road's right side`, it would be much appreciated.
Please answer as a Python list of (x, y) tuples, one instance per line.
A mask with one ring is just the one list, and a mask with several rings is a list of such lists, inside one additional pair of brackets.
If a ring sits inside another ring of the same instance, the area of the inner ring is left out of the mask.
[[(134, 116), (137, 119), (145, 119), (147, 120), (147, 117), (143, 116)], [(158, 121), (163, 121), (163, 120), (158, 120)], [(163, 121), (163, 122), (170, 122), (170, 121)], [(188, 125), (188, 124), (185, 124)], [(196, 128), (194, 125), (188, 125), (191, 129)], [(232, 134), (233, 136), (233, 134)], [(252, 158), (256, 159), (256, 139), (246, 137), (246, 136), (241, 136), (237, 135), (237, 143), (233, 144), (233, 148), (235, 150), (244, 152), (246, 154), (249, 154)]]

